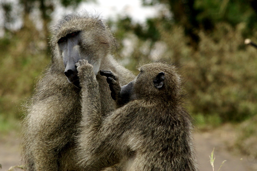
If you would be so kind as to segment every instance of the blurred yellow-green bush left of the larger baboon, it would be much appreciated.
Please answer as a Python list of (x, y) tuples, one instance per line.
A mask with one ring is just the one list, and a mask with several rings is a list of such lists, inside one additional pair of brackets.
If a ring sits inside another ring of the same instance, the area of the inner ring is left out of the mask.
[[(0, 115), (4, 118), (20, 118), (22, 103), (28, 98), (35, 78), (50, 61), (40, 49), (39, 32), (23, 28), (16, 33), (5, 34), (0, 39)], [(44, 45), (44, 43), (43, 43)]]

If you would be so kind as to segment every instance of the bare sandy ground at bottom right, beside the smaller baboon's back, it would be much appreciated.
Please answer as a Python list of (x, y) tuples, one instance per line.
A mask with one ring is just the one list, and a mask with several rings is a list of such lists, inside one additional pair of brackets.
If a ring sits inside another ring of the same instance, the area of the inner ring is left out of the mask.
[(211, 132), (196, 132), (194, 139), (200, 171), (213, 170), (209, 157), (213, 147), (215, 147), (214, 170), (218, 170), (221, 163), (226, 160), (220, 171), (257, 171), (257, 160), (239, 154), (235, 150), (229, 150), (228, 146), (234, 138), (233, 132), (226, 128), (218, 128)]

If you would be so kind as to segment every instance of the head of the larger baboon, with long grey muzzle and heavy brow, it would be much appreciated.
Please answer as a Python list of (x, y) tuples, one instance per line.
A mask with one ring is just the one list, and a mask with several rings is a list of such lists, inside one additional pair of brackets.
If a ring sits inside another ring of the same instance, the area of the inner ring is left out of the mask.
[(51, 46), (63, 59), (63, 72), (68, 81), (79, 87), (75, 65), (78, 60), (86, 59), (97, 74), (101, 61), (116, 44), (112, 33), (98, 16), (83, 13), (68, 14), (58, 21)]

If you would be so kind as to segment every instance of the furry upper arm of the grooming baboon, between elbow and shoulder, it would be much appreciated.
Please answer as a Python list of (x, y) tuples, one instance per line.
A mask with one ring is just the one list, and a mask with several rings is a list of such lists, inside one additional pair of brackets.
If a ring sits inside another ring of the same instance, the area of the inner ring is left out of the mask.
[(127, 141), (134, 135), (131, 128), (137, 124), (132, 119), (136, 117), (137, 113), (133, 109), (128, 112), (133, 105), (133, 103), (130, 103), (122, 106), (102, 118), (102, 122), (95, 132), (96, 134), (90, 141), (89, 147), (92, 154), (95, 156), (109, 154), (110, 152), (120, 154), (121, 151), (127, 150)]

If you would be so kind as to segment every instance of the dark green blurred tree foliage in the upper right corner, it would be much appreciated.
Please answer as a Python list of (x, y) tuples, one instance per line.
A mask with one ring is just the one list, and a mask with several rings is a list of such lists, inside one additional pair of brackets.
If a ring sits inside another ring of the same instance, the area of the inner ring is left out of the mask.
[(255, 0), (142, 0), (144, 5), (165, 4), (172, 13), (167, 21), (174, 22), (183, 27), (184, 33), (189, 37), (189, 43), (195, 49), (200, 38), (199, 30), (208, 33), (220, 22), (233, 27), (244, 22), (246, 27), (242, 30), (245, 36), (256, 32), (257, 1)]

